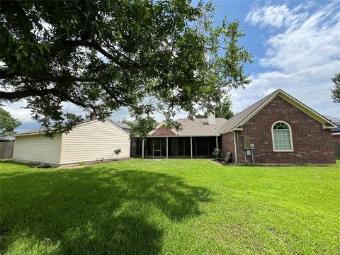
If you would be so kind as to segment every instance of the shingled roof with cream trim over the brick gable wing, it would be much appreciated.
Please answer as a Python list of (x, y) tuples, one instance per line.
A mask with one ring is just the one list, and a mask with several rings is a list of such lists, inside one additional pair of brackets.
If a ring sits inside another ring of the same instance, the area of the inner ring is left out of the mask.
[(257, 101), (256, 103), (252, 104), (248, 108), (244, 109), (242, 112), (237, 113), (237, 115), (234, 115), (234, 117), (227, 120), (227, 123), (225, 123), (225, 125), (223, 125), (220, 128), (219, 130), (220, 133), (242, 129), (242, 125), (244, 125), (248, 120), (250, 120), (256, 113), (261, 111), (261, 109), (268, 103), (270, 103), (273, 100), (273, 98), (276, 98), (276, 96), (280, 96), (281, 98), (285, 99), (285, 101), (288, 101), (288, 103), (291, 103), (293, 104), (293, 106), (299, 108), (300, 111), (306, 113), (307, 115), (310, 115), (310, 117), (319, 121), (319, 123), (322, 123), (324, 129), (336, 128), (336, 125), (333, 122), (331, 122), (331, 120), (325, 118), (323, 115), (320, 115), (316, 111), (312, 110), (305, 104), (298, 101), (296, 98), (293, 98), (293, 96), (290, 96), (282, 89), (278, 89), (276, 91), (273, 91), (273, 93), (269, 94), (268, 96), (265, 96), (261, 100)]

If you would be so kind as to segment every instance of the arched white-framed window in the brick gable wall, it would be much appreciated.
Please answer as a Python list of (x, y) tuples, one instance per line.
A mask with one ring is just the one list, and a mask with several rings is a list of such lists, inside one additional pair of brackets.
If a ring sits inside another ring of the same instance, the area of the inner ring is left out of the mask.
[(288, 123), (278, 121), (271, 127), (274, 152), (293, 152), (292, 129)]

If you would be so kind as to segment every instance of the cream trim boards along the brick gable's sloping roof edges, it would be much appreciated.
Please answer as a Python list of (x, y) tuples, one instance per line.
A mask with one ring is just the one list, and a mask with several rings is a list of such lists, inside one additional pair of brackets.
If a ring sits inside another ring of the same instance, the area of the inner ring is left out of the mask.
[(254, 115), (256, 115), (256, 113), (259, 113), (259, 111), (261, 111), (264, 106), (266, 106), (268, 103), (273, 101), (273, 99), (276, 98), (276, 96), (280, 96), (281, 98), (285, 99), (285, 101), (288, 101), (288, 103), (291, 103), (293, 106), (298, 108), (300, 111), (302, 111), (302, 112), (306, 113), (307, 115), (309, 115), (310, 117), (314, 118), (314, 120), (319, 121), (319, 123), (322, 123), (322, 127), (324, 129), (337, 128), (337, 126), (334, 123), (332, 123), (330, 120), (327, 120), (327, 118), (324, 118), (324, 116), (322, 116), (319, 113), (317, 113), (316, 111), (312, 110), (311, 108), (309, 108), (305, 104), (301, 103), (297, 99), (293, 98), (293, 96), (290, 96), (289, 94), (285, 93), (285, 91), (283, 91), (281, 89), (278, 89), (278, 91), (275, 94), (273, 94), (270, 98), (268, 98), (266, 101), (264, 101), (261, 104), (261, 106), (256, 108), (255, 111), (253, 111), (246, 118), (244, 118), (244, 120), (242, 120), (236, 126), (236, 128), (246, 124), (251, 118), (254, 117)]

